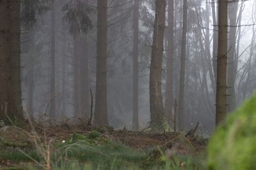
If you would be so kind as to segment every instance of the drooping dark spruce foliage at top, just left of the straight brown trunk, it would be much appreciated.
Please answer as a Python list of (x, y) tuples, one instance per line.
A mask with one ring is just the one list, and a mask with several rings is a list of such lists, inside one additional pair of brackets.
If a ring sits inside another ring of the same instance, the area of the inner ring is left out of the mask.
[(87, 34), (92, 29), (92, 20), (88, 16), (93, 9), (83, 2), (71, 0), (62, 8), (65, 12), (63, 25), (67, 28), (68, 34), (76, 37), (79, 34)]

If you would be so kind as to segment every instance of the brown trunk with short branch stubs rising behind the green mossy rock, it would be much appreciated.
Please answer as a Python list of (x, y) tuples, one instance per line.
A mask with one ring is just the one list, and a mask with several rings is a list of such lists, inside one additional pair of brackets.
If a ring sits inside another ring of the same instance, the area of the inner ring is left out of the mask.
[(227, 0), (219, 0), (218, 60), (216, 89), (216, 125), (227, 113)]

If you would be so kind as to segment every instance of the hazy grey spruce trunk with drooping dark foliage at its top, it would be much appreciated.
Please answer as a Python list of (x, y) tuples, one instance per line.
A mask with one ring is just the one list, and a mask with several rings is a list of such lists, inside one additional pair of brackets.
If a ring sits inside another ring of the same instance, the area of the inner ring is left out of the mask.
[(86, 34), (92, 29), (89, 15), (92, 8), (85, 1), (69, 1), (62, 11), (65, 12), (63, 24), (74, 40), (74, 107), (75, 117), (84, 118), (88, 113), (88, 43)]

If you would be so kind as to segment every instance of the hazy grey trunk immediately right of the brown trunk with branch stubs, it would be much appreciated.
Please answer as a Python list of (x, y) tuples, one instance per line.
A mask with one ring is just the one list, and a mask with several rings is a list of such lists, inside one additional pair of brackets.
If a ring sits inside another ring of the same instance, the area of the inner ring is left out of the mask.
[[(237, 24), (237, 10), (238, 10), (238, 1), (232, 2), (228, 5), (228, 15), (229, 15), (229, 24)], [(237, 27), (229, 27), (229, 45), (228, 49), (228, 67), (227, 67), (227, 111), (232, 112), (236, 107), (236, 92), (235, 92), (235, 78), (236, 78), (236, 32)]]

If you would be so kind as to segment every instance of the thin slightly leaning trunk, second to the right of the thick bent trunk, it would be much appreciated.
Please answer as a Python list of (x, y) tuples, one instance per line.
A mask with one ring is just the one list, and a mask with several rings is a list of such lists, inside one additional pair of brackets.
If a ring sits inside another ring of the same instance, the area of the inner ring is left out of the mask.
[(186, 67), (186, 39), (187, 39), (188, 0), (183, 1), (182, 45), (180, 59), (180, 92), (179, 92), (179, 131), (183, 131), (184, 117), (184, 88)]

